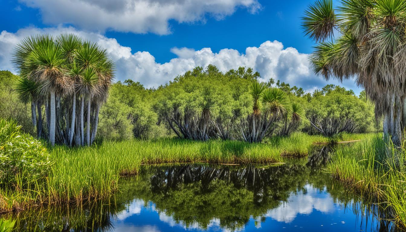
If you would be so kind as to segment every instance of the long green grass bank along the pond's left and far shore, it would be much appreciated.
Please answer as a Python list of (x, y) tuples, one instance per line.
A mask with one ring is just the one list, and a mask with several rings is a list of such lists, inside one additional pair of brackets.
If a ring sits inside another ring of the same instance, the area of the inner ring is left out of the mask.
[[(370, 137), (371, 134), (346, 135)], [(118, 188), (120, 176), (138, 173), (143, 164), (193, 163), (216, 164), (283, 163), (286, 157), (303, 157), (309, 148), (329, 140), (321, 136), (295, 133), (274, 137), (263, 143), (180, 139), (104, 142), (92, 147), (49, 148), (51, 170), (34, 179), (28, 188), (0, 189), (0, 212), (22, 210), (43, 203), (81, 203), (87, 199), (110, 197)], [(23, 173), (29, 175), (29, 173)]]

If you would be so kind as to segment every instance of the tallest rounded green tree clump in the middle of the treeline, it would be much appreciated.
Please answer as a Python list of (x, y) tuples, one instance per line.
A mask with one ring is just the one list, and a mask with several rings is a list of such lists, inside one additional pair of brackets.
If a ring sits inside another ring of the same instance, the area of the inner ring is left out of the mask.
[(197, 67), (159, 88), (153, 107), (180, 138), (235, 138), (238, 121), (248, 112), (247, 89), (253, 80), (249, 69), (222, 74), (212, 65), (204, 71)]

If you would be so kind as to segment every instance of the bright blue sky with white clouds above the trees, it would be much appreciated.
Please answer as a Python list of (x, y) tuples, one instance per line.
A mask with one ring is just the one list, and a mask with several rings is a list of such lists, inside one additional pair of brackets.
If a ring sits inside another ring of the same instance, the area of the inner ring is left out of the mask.
[(313, 0), (1, 0), (0, 69), (13, 48), (39, 33), (75, 33), (116, 62), (115, 80), (158, 87), (196, 66), (252, 67), (261, 80), (306, 91), (326, 84), (359, 93), (354, 80), (329, 82), (309, 68), (314, 43), (300, 17)]

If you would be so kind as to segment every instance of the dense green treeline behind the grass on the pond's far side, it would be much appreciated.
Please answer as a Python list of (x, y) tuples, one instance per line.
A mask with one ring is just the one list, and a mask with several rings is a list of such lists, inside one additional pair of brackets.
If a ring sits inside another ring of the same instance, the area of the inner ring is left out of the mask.
[[(18, 77), (2, 71), (0, 78), (4, 83), (0, 94), (7, 99), (0, 105), (1, 117), (14, 118), (24, 130), (33, 133), (29, 109), (13, 97), (13, 82)], [(284, 82), (270, 79), (265, 83), (259, 78), (260, 74), (251, 68), (222, 73), (209, 65), (188, 71), (156, 89), (146, 89), (132, 80), (118, 81), (100, 108), (97, 139), (175, 136), (259, 142), (274, 135), (289, 136), (294, 131), (330, 137), (340, 132), (382, 130), (374, 119), (374, 105), (364, 91), (356, 96), (352, 90), (326, 85), (305, 93)]]

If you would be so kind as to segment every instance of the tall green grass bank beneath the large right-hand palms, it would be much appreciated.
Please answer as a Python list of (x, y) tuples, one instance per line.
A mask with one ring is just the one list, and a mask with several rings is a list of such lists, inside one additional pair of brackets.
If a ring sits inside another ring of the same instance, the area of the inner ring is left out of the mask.
[(391, 219), (406, 228), (406, 150), (396, 150), (381, 136), (352, 146), (341, 146), (328, 169), (349, 188), (387, 208)]

